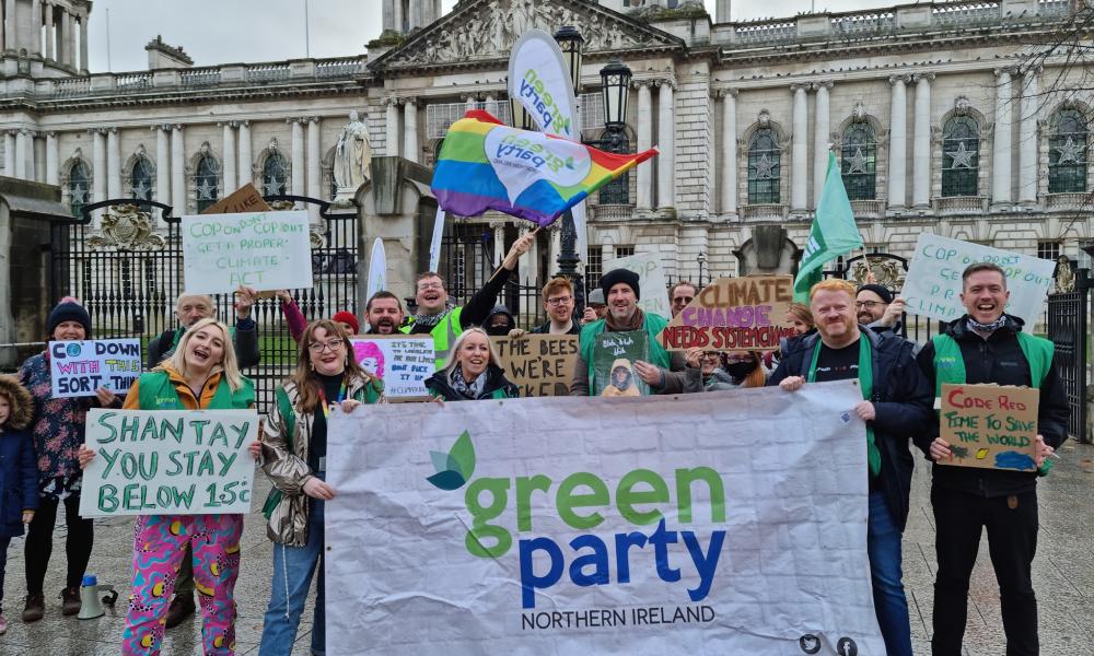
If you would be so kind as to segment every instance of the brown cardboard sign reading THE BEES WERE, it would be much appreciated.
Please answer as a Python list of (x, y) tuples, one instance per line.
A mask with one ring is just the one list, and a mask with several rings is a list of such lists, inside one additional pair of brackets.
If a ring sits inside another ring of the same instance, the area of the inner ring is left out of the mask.
[(569, 396), (578, 364), (577, 335), (492, 337), (505, 377), (522, 397)]

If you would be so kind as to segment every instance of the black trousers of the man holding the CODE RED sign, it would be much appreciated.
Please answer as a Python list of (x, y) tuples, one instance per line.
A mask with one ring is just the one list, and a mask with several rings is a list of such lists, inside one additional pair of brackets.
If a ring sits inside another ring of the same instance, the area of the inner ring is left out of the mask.
[(931, 490), (939, 574), (934, 582), (934, 656), (961, 656), (968, 612), (968, 581), (981, 528), (999, 582), (1006, 656), (1036, 656), (1037, 598), (1031, 570), (1037, 551), (1037, 492), (987, 499), (940, 488)]

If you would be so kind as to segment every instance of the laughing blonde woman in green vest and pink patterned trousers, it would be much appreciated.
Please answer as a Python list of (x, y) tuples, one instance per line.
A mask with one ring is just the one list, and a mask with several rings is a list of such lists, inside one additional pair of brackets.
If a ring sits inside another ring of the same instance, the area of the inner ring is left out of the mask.
[[(228, 326), (213, 318), (190, 326), (168, 360), (133, 383), (126, 410), (246, 410), (254, 384), (240, 373)], [(257, 442), (251, 445), (254, 454)], [(95, 452), (80, 448), (86, 467)], [(240, 574), (243, 515), (139, 515), (133, 527), (133, 583), (121, 634), (124, 655), (155, 655), (163, 641), (167, 601), (186, 544), (202, 614), (206, 654), (235, 651), (235, 581)]]

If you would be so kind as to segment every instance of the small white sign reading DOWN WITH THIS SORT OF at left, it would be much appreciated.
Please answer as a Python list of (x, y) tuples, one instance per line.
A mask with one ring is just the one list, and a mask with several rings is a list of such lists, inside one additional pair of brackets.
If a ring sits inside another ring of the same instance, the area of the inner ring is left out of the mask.
[(125, 394), (140, 376), (139, 339), (49, 342), (49, 377), (54, 398), (95, 396), (105, 387)]

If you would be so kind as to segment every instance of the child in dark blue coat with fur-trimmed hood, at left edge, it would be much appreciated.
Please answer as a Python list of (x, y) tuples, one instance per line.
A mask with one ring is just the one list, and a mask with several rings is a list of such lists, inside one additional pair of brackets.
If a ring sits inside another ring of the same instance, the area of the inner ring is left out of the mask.
[(38, 467), (26, 426), (34, 400), (14, 376), (0, 376), (0, 634), (8, 631), (3, 617), (3, 578), (11, 539), (23, 535), (38, 507)]

